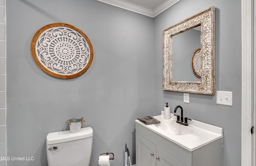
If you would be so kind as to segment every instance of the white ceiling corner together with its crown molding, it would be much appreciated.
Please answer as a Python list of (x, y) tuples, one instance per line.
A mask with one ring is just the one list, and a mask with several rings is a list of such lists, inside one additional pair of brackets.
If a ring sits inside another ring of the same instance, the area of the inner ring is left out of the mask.
[(98, 0), (154, 18), (179, 0)]

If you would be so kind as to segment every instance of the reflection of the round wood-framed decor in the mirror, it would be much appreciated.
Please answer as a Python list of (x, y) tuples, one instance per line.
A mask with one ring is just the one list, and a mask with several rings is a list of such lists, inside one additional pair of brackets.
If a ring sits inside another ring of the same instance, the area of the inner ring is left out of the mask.
[(191, 59), (191, 66), (196, 77), (201, 78), (201, 49), (194, 51)]

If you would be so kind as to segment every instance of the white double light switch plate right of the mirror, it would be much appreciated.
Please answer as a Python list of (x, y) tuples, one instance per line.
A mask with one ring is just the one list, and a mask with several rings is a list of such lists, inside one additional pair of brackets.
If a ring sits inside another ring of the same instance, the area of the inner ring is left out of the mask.
[(233, 105), (233, 93), (226, 91), (216, 91), (216, 103), (222, 105)]

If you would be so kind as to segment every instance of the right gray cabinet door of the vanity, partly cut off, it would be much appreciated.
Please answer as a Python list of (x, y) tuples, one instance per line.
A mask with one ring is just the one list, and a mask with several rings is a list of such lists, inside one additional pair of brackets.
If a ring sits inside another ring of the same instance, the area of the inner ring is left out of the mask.
[(158, 147), (156, 147), (156, 158), (156, 166), (186, 166)]

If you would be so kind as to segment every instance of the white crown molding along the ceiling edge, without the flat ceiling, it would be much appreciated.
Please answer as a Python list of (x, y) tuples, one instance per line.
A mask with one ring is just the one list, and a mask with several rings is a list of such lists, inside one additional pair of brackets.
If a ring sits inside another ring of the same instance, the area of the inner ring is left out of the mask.
[(164, 10), (170, 8), (172, 5), (176, 4), (180, 0), (164, 0), (162, 3), (160, 3), (158, 6), (154, 8), (148, 8), (146, 6), (137, 4), (129, 0), (97, 0), (97, 1), (104, 2), (106, 4), (110, 4), (118, 8), (130, 10), (132, 12), (136, 12), (138, 14), (143, 14), (145, 16), (154, 18), (158, 14), (164, 12)]

